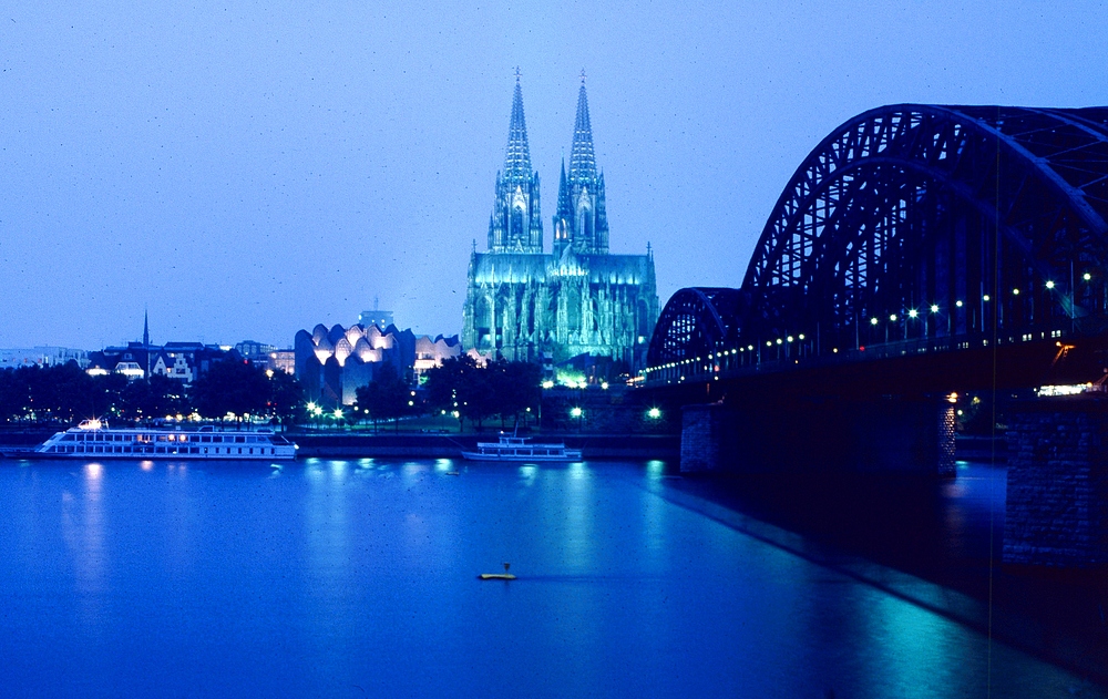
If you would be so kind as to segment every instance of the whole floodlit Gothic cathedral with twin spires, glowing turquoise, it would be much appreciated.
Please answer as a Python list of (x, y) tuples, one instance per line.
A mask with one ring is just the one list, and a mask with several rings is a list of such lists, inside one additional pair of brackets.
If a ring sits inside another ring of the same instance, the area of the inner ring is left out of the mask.
[(474, 244), (470, 255), (462, 345), (511, 360), (564, 362), (591, 354), (643, 367), (658, 318), (654, 256), (649, 246), (646, 255), (608, 253), (604, 173), (593, 154), (584, 76), (548, 254), (538, 201), (516, 74), (489, 251), (478, 253)]

